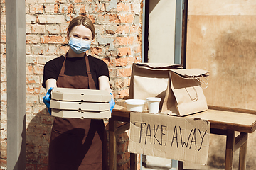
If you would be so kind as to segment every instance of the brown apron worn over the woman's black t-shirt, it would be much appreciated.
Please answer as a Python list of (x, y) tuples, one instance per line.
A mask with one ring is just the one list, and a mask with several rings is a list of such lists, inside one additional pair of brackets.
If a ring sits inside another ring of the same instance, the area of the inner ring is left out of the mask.
[[(65, 60), (57, 79), (58, 87), (96, 89), (87, 55), (88, 77), (65, 75)], [(107, 134), (103, 120), (55, 118), (50, 135), (48, 170), (85, 169), (108, 169)]]

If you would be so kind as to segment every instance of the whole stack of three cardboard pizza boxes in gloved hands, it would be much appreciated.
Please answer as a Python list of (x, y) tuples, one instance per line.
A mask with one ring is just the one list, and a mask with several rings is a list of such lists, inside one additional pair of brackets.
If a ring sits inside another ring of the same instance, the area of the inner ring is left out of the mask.
[(110, 118), (111, 95), (92, 89), (53, 88), (50, 108), (60, 118)]

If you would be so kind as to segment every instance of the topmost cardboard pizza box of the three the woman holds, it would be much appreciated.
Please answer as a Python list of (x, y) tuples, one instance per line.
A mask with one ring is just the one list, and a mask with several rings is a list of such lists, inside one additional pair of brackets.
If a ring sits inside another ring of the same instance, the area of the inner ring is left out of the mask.
[(51, 92), (51, 98), (58, 101), (90, 101), (109, 102), (111, 95), (105, 90), (72, 89), (55, 87)]

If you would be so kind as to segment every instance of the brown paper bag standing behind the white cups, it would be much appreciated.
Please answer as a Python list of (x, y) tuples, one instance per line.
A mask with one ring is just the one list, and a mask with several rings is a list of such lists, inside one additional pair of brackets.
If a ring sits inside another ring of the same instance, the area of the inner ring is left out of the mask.
[(181, 69), (180, 64), (134, 63), (129, 88), (129, 98), (143, 99), (147, 97), (162, 98), (161, 109), (166, 94), (168, 74), (171, 69)]

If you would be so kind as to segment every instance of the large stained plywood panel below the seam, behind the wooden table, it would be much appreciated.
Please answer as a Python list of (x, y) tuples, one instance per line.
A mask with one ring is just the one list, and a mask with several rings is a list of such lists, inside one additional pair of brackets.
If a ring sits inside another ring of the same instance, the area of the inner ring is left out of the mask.
[(186, 68), (210, 71), (208, 105), (256, 110), (256, 16), (188, 16)]

